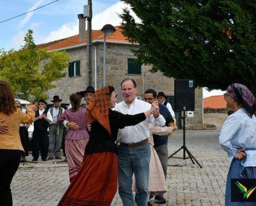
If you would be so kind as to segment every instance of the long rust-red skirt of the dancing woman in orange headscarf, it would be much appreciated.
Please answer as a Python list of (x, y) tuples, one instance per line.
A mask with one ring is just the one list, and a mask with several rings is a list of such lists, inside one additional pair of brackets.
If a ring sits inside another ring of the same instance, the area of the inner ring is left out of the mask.
[(84, 154), (82, 166), (58, 205), (109, 206), (117, 190), (117, 155)]

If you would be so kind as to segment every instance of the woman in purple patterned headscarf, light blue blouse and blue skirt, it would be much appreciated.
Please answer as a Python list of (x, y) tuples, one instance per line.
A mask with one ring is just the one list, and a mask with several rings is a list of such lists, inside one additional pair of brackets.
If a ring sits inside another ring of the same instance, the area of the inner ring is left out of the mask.
[[(252, 118), (256, 110), (255, 98), (245, 85), (234, 83), (228, 87), (224, 99), (227, 101), (227, 107), (234, 112), (224, 122), (219, 136), (220, 146), (233, 158), (227, 178), (225, 206), (255, 205), (255, 202), (244, 202), (255, 201), (256, 198), (255, 194), (249, 195), (243, 185), (245, 179), (256, 179), (256, 128)], [(232, 179), (244, 180), (241, 183)], [(250, 188), (251, 186), (248, 191)], [(241, 201), (234, 198), (240, 198)]]

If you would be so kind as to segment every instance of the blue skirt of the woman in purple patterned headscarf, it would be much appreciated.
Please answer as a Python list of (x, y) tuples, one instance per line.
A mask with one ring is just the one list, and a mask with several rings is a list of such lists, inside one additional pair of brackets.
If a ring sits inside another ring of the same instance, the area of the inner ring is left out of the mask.
[(256, 202), (231, 202), (231, 179), (256, 179), (256, 167), (243, 167), (240, 160), (233, 158), (225, 193), (225, 206), (256, 206)]

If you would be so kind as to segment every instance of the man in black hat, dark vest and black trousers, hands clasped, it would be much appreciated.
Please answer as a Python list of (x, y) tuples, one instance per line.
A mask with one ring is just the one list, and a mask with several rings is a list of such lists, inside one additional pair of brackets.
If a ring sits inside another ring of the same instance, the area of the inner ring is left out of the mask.
[(39, 157), (39, 150), (41, 151), (42, 161), (47, 161), (48, 155), (48, 127), (50, 119), (47, 118), (47, 113), (44, 108), (47, 102), (44, 99), (38, 101), (39, 109), (35, 113), (34, 131), (33, 131), (33, 151), (32, 161), (37, 161)]

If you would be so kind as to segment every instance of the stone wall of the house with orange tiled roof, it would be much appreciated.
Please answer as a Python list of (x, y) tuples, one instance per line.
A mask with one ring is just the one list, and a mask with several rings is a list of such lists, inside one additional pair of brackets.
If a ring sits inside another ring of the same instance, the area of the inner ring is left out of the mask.
[[(93, 45), (96, 48), (96, 64), (97, 64), (97, 88), (103, 85), (103, 44), (96, 43)], [(93, 74), (92, 84), (95, 87), (95, 62), (93, 48)], [(106, 53), (106, 84), (113, 85), (116, 90), (118, 102), (123, 100), (121, 81), (125, 78), (132, 78), (137, 82), (138, 96), (143, 96), (147, 89), (154, 89), (156, 92), (163, 91), (165, 95), (174, 95), (174, 79), (163, 76), (160, 72), (152, 74), (149, 70), (152, 68), (150, 65), (143, 65), (142, 75), (128, 75), (128, 58), (134, 58), (131, 53), (131, 48), (138, 48), (135, 45), (129, 44), (113, 44), (107, 43)], [(48, 92), (50, 98), (53, 95), (59, 95), (63, 102), (69, 102), (69, 95), (78, 91), (83, 91), (88, 86), (86, 75), (86, 47), (67, 50), (71, 61), (81, 61), (80, 77), (68, 77), (68, 68), (66, 68), (66, 78), (55, 81), (55, 89)], [(195, 90), (195, 111), (193, 118), (187, 118), (187, 125), (203, 125), (203, 108), (202, 108), (202, 89)]]

